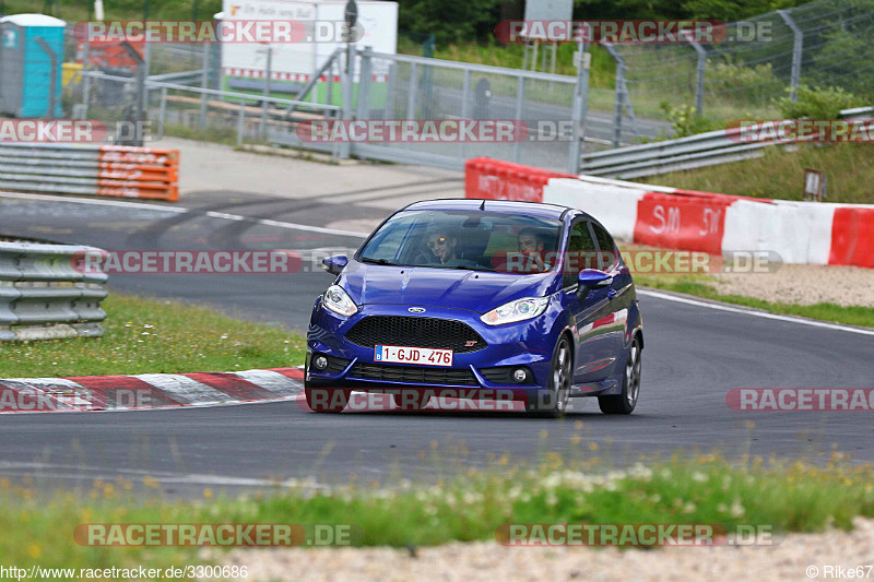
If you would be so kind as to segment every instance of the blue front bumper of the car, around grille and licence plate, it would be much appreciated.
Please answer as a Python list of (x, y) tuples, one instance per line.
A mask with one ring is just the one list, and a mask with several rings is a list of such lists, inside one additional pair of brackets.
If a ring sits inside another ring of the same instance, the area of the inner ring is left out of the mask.
[[(321, 298), (316, 301), (307, 333), (306, 381), (308, 387), (356, 389), (367, 392), (394, 392), (399, 389), (427, 391), (436, 389), (459, 389), (459, 393), (482, 397), (500, 391), (506, 396), (509, 391), (515, 397), (525, 399), (539, 394), (548, 385), (552, 353), (557, 340), (555, 331), (556, 312), (552, 306), (541, 316), (528, 321), (505, 325), (486, 325), (480, 321), (480, 313), (464, 309), (426, 307), (422, 317), (461, 321), (473, 328), (485, 347), (475, 352), (454, 353), (452, 366), (437, 368), (432, 366), (410, 366), (374, 361), (374, 349), (352, 343), (345, 334), (362, 319), (370, 316), (416, 317), (411, 314), (409, 305), (366, 305), (346, 318), (324, 309)], [(394, 345), (391, 337), (386, 344)], [(314, 355), (342, 358), (346, 365), (335, 364), (319, 371), (312, 366)], [(376, 379), (375, 368), (382, 367), (389, 373)], [(504, 381), (494, 368), (510, 367), (529, 370), (523, 383), (512, 382), (509, 376)], [(399, 368), (414, 368), (405, 373)], [(426, 369), (427, 368), (427, 369)], [(423, 369), (420, 373), (414, 373)], [(365, 373), (367, 372), (367, 373)], [(415, 379), (413, 379), (415, 377)], [(491, 380), (489, 380), (491, 378)]]

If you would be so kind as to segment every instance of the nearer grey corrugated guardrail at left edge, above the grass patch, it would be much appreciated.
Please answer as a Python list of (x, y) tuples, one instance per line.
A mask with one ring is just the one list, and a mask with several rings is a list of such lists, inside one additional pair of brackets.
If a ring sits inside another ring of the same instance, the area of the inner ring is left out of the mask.
[(0, 242), (0, 341), (103, 335), (105, 273), (75, 269), (75, 258), (101, 249)]

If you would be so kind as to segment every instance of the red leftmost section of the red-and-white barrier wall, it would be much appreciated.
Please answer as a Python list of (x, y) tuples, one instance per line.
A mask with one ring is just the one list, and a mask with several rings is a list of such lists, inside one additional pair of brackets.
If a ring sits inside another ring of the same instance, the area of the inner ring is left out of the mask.
[(552, 178), (576, 176), (488, 157), (474, 157), (464, 164), (464, 195), (487, 200), (543, 202), (543, 187)]

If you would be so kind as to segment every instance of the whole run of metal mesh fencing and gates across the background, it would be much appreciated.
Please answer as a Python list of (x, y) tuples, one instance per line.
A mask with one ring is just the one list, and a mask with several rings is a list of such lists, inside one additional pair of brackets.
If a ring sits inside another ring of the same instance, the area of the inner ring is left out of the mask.
[[(344, 51), (316, 73), (261, 71), (270, 62), (264, 57), (264, 67), (252, 64), (241, 76), (223, 66), (216, 43), (132, 47), (146, 63), (141, 93), (140, 69), (130, 50), (88, 47), (69, 31), (64, 61), (86, 63), (86, 72), (68, 83), (64, 115), (135, 120), (142, 103), (144, 119), (157, 121), (153, 128), (172, 135), (444, 167), (488, 156), (575, 171), (580, 151), (671, 136), (672, 115), (665, 109), (672, 107), (692, 106), (713, 123), (777, 118), (775, 99), (800, 84), (838, 86), (874, 102), (874, 0), (817, 0), (732, 23), (724, 32), (722, 41), (711, 44), (604, 44), (616, 63), (615, 86), (588, 88), (582, 120), (576, 76), (376, 54), (364, 47), (355, 51), (346, 99)], [(520, 120), (533, 135), (512, 143), (302, 142), (298, 123), (323, 119)], [(581, 143), (574, 140), (574, 128)]]

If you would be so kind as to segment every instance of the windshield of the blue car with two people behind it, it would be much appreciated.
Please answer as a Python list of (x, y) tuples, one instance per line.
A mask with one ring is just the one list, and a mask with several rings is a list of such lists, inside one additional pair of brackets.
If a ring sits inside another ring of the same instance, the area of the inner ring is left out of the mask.
[(358, 260), (379, 264), (543, 273), (555, 268), (562, 223), (487, 211), (408, 211), (391, 217)]

